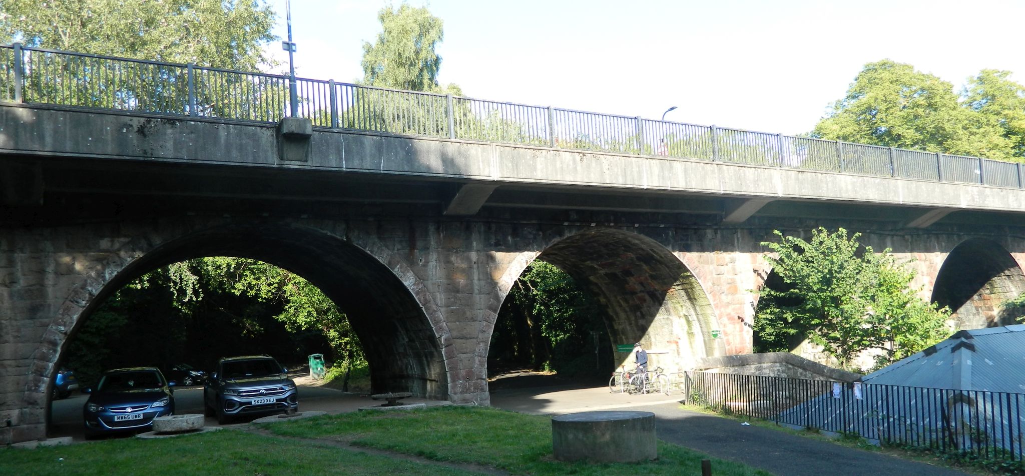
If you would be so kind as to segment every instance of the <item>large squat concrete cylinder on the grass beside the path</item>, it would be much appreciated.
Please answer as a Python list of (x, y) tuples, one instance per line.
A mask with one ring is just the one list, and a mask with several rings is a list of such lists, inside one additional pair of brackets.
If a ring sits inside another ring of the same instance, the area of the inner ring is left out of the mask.
[(582, 411), (551, 419), (551, 448), (560, 461), (654, 460), (655, 441), (651, 411)]

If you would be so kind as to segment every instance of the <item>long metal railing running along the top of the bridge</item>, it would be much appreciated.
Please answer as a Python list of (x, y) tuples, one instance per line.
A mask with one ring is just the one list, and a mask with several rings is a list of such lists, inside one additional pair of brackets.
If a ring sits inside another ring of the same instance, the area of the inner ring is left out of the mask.
[[(1022, 165), (726, 127), (296, 78), (314, 125), (616, 154), (1022, 188)], [(0, 101), (276, 122), (282, 75), (0, 46)]]

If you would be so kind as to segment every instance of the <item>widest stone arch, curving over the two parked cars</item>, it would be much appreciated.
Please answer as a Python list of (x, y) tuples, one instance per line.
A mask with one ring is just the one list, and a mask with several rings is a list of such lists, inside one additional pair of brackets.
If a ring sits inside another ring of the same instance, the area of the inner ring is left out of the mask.
[(27, 409), (44, 411), (68, 343), (111, 293), (150, 270), (213, 255), (260, 260), (319, 286), (348, 315), (367, 352), (375, 390), (448, 398), (447, 370), (454, 357), (443, 357), (451, 346), (444, 317), (410, 268), (373, 237), (292, 222), (175, 224), (164, 230), (126, 239), (88, 264), (33, 353)]

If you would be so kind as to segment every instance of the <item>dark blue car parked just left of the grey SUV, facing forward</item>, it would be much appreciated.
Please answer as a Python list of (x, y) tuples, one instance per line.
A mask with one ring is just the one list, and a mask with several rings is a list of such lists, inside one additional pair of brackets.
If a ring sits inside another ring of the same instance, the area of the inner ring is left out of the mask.
[(107, 370), (96, 388), (86, 388), (82, 408), (85, 436), (148, 431), (153, 419), (174, 414), (174, 391), (155, 367)]

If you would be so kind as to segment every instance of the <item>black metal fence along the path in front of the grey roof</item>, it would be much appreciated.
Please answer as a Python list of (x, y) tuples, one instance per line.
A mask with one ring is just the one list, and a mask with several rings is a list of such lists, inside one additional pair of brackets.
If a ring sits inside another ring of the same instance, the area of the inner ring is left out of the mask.
[(689, 402), (884, 443), (1022, 461), (1025, 395), (683, 372)]

